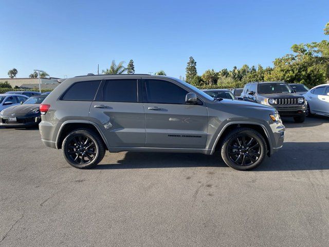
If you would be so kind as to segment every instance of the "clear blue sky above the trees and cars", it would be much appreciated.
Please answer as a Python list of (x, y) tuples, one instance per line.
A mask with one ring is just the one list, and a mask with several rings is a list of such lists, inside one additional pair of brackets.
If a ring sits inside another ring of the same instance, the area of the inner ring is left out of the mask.
[(0, 78), (97, 73), (134, 60), (136, 73), (263, 66), (291, 45), (321, 41), (329, 1), (15, 1), (0, 2)]

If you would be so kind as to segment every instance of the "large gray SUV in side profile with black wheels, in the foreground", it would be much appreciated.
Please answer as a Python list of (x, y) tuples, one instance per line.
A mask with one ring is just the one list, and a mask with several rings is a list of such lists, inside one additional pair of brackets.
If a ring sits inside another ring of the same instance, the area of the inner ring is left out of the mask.
[(209, 155), (218, 150), (228, 166), (247, 170), (281, 148), (285, 133), (272, 107), (215, 101), (165, 76), (69, 78), (47, 96), (40, 112), (43, 143), (62, 149), (76, 168), (95, 166), (105, 150)]

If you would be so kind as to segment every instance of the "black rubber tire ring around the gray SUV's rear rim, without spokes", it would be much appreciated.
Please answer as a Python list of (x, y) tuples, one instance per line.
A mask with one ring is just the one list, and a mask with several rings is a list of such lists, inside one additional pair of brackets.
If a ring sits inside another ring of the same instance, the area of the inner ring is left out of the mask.
[[(70, 157), (68, 156), (68, 154), (66, 152), (67, 145), (69, 144), (69, 140), (71, 140), (75, 136), (79, 136), (79, 135), (84, 135), (84, 136), (92, 139), (94, 144), (95, 144), (95, 147), (96, 147), (96, 155), (95, 155), (94, 160), (90, 163), (83, 164), (83, 165), (79, 165), (75, 162), (72, 162)], [(73, 131), (73, 132), (69, 133), (63, 141), (62, 150), (63, 150), (63, 156), (64, 156), (66, 162), (68, 164), (70, 164), (71, 166), (79, 168), (79, 169), (90, 168), (90, 167), (95, 166), (97, 164), (96, 162), (98, 161), (98, 158), (99, 158), (99, 155), (100, 155), (100, 147), (99, 147), (98, 140), (94, 137), (94, 135), (92, 133), (90, 133), (89, 131), (86, 131), (86, 130), (77, 130), (77, 131)]]

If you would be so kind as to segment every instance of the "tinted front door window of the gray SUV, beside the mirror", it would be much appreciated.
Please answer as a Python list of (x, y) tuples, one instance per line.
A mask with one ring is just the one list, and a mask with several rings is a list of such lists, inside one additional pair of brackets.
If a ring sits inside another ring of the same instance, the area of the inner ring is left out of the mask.
[(145, 81), (148, 101), (150, 103), (185, 104), (185, 89), (169, 81), (146, 80)]

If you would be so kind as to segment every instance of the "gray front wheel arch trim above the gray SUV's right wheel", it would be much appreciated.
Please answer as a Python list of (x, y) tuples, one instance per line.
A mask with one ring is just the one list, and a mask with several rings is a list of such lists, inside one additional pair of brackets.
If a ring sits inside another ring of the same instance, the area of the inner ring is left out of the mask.
[(223, 139), (227, 136), (227, 134), (236, 129), (236, 128), (250, 128), (255, 131), (258, 131), (265, 139), (265, 142), (267, 144), (268, 150), (267, 155), (269, 156), (272, 150), (272, 142), (271, 137), (268, 133), (268, 130), (264, 125), (258, 122), (229, 122), (227, 123), (224, 128), (221, 130), (221, 132), (216, 137), (216, 140), (214, 142), (214, 145), (211, 149), (211, 154), (213, 154), (215, 151), (219, 150), (222, 144)]

